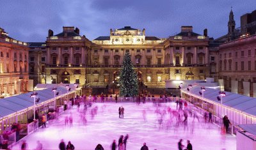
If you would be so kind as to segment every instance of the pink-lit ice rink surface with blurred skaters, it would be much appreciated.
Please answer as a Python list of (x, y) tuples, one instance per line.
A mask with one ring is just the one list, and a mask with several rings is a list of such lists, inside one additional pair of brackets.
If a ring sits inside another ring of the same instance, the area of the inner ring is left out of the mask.
[[(97, 115), (92, 118), (92, 108), (98, 107)], [(118, 118), (118, 108), (124, 107), (124, 119)], [(205, 123), (202, 116), (200, 122), (189, 115), (188, 126), (178, 125), (166, 112), (163, 123), (160, 125), (161, 117), (156, 114), (168, 110), (170, 106), (176, 109), (176, 103), (162, 103), (161, 107), (153, 107), (152, 103), (93, 103), (86, 112), (85, 124), (83, 119), (83, 105), (79, 112), (77, 107), (66, 110), (58, 120), (47, 122), (47, 128), (39, 128), (24, 140), (28, 143), (29, 149), (35, 149), (36, 140), (40, 140), (44, 149), (58, 149), (61, 139), (65, 144), (70, 140), (75, 149), (93, 150), (97, 144), (102, 144), (104, 149), (110, 149), (114, 139), (118, 141), (120, 135), (129, 134), (127, 141), (128, 150), (140, 149), (143, 142), (147, 143), (149, 149), (167, 150), (178, 149), (177, 142), (183, 139), (190, 140), (195, 150), (217, 150), (236, 149), (236, 137), (232, 135), (221, 135), (220, 128), (212, 123)], [(143, 113), (144, 112), (144, 113)], [(144, 117), (143, 117), (144, 114)], [(72, 116), (73, 125), (65, 126), (65, 117)], [(186, 147), (184, 147), (185, 149)], [(20, 143), (12, 149), (20, 149)]]

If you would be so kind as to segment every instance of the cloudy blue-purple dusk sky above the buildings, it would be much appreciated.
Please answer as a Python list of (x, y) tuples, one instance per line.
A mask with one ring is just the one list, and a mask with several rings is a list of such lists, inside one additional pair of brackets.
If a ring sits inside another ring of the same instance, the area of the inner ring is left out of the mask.
[(109, 29), (131, 26), (146, 29), (147, 36), (166, 38), (193, 26), (195, 33), (218, 38), (227, 34), (230, 7), (236, 27), (240, 17), (255, 10), (255, 0), (1, 0), (0, 27), (20, 41), (45, 41), (48, 30), (61, 33), (74, 26), (89, 40), (109, 36)]

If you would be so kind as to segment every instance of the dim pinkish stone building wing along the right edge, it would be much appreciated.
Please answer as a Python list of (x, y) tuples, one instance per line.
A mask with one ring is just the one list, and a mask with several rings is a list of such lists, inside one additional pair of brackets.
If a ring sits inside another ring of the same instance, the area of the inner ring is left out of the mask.
[(256, 96), (255, 57), (256, 34), (220, 45), (220, 78), (224, 80), (226, 91), (246, 94), (248, 90), (250, 93), (246, 95)]

